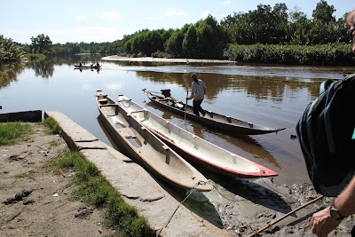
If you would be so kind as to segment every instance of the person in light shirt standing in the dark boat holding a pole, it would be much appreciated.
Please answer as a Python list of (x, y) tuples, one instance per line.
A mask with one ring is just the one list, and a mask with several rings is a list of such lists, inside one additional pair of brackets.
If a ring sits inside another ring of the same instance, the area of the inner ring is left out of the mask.
[(191, 95), (190, 97), (186, 97), (186, 100), (193, 99), (193, 114), (196, 116), (200, 116), (199, 112), (204, 116), (206, 112), (201, 107), (201, 103), (205, 98), (206, 94), (206, 85), (202, 82), (201, 79), (197, 78), (196, 74), (192, 74), (191, 78), (193, 79), (193, 83), (191, 84)]

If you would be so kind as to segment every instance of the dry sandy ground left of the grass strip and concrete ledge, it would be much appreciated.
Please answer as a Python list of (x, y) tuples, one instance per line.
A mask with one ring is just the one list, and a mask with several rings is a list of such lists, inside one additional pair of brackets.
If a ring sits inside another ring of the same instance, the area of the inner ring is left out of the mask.
[(30, 123), (28, 142), (0, 146), (0, 236), (107, 236), (103, 211), (71, 195), (70, 174), (47, 162), (68, 151), (63, 138)]

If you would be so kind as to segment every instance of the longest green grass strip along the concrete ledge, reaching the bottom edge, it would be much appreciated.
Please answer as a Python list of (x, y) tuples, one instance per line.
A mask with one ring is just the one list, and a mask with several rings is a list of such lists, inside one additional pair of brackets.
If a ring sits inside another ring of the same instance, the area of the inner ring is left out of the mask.
[(155, 236), (145, 217), (139, 217), (137, 209), (125, 203), (113, 186), (100, 175), (99, 170), (80, 152), (59, 157), (55, 166), (61, 170), (74, 170), (75, 197), (106, 212), (105, 225), (118, 229), (117, 236)]

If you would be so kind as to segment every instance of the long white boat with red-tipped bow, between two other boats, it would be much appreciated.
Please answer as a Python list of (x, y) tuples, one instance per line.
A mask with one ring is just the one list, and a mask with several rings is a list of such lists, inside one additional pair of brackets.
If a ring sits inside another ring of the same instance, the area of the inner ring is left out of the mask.
[(123, 95), (118, 96), (118, 105), (125, 113), (153, 131), (177, 154), (180, 154), (189, 162), (232, 177), (259, 178), (278, 175), (275, 171), (269, 170), (256, 162), (251, 162), (238, 154), (233, 154), (195, 136), (193, 133), (146, 110)]

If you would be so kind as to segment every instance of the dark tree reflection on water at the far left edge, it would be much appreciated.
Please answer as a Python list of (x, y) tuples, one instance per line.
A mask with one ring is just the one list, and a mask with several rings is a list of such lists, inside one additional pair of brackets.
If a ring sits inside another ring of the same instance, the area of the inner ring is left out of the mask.
[(12, 81), (17, 81), (19, 75), (25, 68), (22, 63), (0, 64), (0, 88), (8, 86)]

